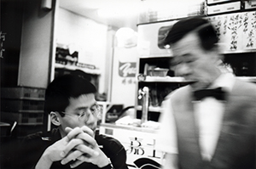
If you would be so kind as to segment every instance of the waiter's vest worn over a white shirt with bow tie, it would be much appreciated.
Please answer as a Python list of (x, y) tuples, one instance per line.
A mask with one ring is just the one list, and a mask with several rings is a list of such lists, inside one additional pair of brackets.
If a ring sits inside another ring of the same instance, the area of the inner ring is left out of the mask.
[(255, 169), (256, 85), (236, 80), (227, 96), (218, 144), (212, 161), (202, 161), (191, 87), (171, 95), (177, 123), (181, 169)]

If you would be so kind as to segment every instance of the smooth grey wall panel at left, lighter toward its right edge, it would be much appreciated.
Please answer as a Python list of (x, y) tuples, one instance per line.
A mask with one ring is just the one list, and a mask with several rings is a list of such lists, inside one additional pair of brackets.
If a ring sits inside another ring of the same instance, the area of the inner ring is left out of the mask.
[(25, 3), (18, 86), (45, 88), (49, 83), (53, 13), (41, 8), (41, 1)]

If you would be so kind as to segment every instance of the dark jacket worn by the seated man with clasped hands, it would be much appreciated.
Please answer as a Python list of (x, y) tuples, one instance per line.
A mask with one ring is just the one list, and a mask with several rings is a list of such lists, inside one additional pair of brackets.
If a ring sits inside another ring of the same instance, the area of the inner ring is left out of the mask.
[[(37, 132), (28, 135), (20, 144), (19, 152), (15, 158), (15, 169), (29, 169), (36, 166), (39, 158), (43, 155), (44, 150), (49, 145), (54, 144), (56, 141), (61, 139), (61, 133), (58, 129), (53, 129), (51, 132), (43, 133)], [(108, 156), (113, 164), (114, 169), (127, 169), (126, 166), (126, 151), (122, 144), (114, 138), (110, 138), (104, 135), (96, 134), (96, 142), (98, 145), (102, 145), (101, 149), (105, 155)], [(66, 169), (70, 168), (70, 164), (61, 165), (61, 161), (55, 161), (52, 169)], [(99, 167), (91, 163), (84, 162), (83, 164), (76, 167), (77, 169), (98, 169)]]

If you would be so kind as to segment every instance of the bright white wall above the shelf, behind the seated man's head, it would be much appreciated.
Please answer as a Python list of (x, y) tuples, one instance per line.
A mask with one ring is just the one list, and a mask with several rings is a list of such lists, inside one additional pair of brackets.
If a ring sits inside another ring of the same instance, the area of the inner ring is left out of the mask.
[(57, 15), (55, 42), (79, 50), (79, 62), (96, 65), (101, 70), (98, 92), (105, 92), (105, 86), (108, 85), (105, 84), (108, 75), (105, 70), (108, 25), (97, 23), (64, 8), (59, 8)]

